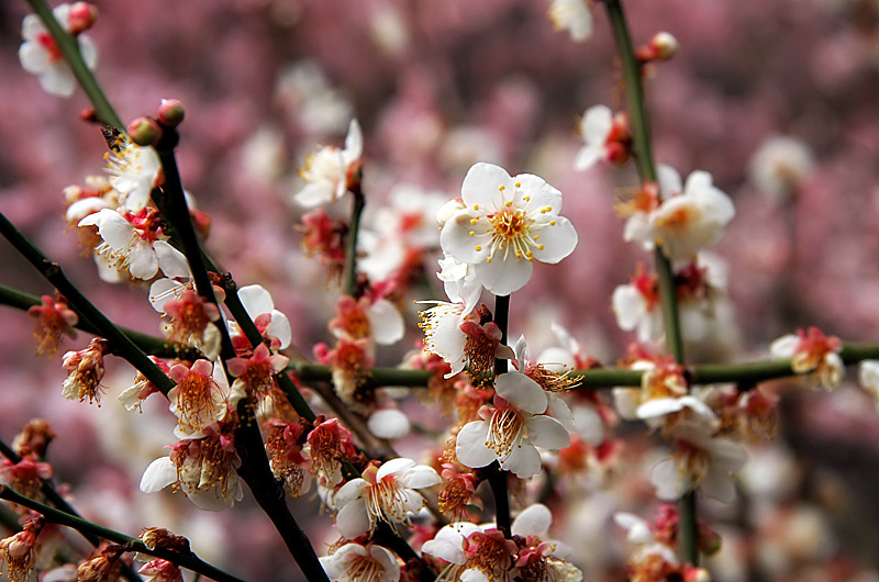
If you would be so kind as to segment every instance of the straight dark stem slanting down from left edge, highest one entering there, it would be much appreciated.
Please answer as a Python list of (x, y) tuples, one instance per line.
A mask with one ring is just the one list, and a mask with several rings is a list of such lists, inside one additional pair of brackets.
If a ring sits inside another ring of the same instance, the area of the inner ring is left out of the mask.
[(38, 270), (58, 292), (67, 299), (70, 305), (90, 323), (94, 329), (113, 346), (115, 352), (136, 368), (147, 380), (163, 393), (167, 394), (174, 388), (174, 381), (153, 363), (146, 354), (138, 348), (113, 322), (107, 318), (94, 304), (84, 295), (77, 287), (62, 271), (57, 262), (53, 262), (31, 243), (15, 226), (0, 213), (0, 234), (27, 261)]

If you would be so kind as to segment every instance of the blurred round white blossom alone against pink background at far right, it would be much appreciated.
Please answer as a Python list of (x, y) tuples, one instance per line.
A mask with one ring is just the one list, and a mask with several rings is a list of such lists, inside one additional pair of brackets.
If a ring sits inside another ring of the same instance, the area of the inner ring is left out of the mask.
[(803, 142), (786, 135), (767, 137), (748, 164), (748, 178), (771, 200), (781, 200), (805, 178), (815, 165)]

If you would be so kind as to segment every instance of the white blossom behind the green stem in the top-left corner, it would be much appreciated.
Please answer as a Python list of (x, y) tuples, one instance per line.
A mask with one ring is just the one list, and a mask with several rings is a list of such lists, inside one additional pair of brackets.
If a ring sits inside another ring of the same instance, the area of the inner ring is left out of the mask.
[[(74, 33), (70, 22), (70, 4), (58, 4), (52, 15), (67, 32)], [(47, 93), (70, 97), (76, 89), (76, 78), (62, 55), (55, 38), (36, 14), (27, 14), (21, 23), (24, 42), (19, 47), (19, 60), (27, 72), (36, 75)], [(79, 54), (86, 66), (93, 69), (98, 64), (98, 48), (85, 34), (75, 34)]]

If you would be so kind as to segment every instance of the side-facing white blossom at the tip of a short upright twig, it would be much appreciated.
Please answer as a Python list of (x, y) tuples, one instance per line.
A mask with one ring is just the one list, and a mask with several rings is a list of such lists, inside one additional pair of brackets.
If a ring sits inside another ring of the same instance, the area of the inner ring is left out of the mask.
[(305, 182), (293, 200), (304, 208), (315, 208), (335, 202), (352, 188), (359, 188), (360, 156), (364, 136), (360, 124), (352, 120), (345, 148), (324, 146), (305, 158), (299, 176)]

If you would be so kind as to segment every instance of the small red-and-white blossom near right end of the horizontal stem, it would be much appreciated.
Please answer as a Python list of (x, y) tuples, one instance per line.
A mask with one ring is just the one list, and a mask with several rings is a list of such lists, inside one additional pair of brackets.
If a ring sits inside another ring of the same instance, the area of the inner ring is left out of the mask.
[(826, 390), (843, 382), (845, 365), (839, 351), (843, 343), (836, 336), (825, 336), (817, 327), (798, 329), (769, 345), (772, 358), (790, 358), (790, 368), (800, 374), (811, 374)]

